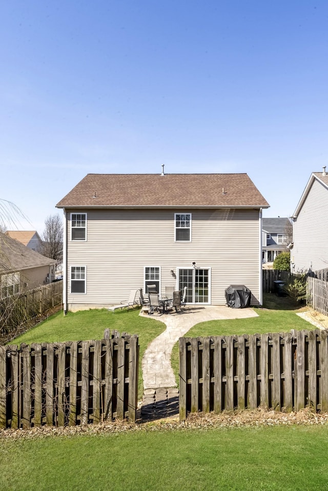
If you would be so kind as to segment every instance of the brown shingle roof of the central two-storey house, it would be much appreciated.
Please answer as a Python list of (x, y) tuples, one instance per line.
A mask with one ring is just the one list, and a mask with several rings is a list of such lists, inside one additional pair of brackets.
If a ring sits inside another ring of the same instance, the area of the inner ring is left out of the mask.
[[(94, 197), (95, 196), (95, 197)], [(260, 207), (247, 174), (88, 174), (56, 207)]]

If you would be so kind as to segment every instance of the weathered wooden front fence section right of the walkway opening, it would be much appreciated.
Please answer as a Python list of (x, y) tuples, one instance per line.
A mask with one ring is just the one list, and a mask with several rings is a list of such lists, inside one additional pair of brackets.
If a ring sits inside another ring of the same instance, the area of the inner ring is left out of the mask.
[(180, 338), (179, 412), (328, 411), (324, 331)]

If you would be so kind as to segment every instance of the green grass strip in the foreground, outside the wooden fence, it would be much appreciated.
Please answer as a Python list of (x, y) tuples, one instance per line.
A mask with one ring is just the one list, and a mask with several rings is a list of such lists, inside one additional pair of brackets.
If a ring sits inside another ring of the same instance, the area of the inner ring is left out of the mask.
[(327, 426), (3, 439), (0, 488), (322, 490)]

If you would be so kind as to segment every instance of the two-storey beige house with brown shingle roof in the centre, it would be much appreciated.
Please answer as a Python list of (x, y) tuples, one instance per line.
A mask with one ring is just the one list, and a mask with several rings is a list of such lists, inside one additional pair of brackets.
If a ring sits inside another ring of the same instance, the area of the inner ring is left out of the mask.
[(230, 284), (262, 301), (261, 210), (247, 174), (88, 174), (63, 208), (64, 308), (99, 308), (155, 283), (191, 304), (225, 304)]

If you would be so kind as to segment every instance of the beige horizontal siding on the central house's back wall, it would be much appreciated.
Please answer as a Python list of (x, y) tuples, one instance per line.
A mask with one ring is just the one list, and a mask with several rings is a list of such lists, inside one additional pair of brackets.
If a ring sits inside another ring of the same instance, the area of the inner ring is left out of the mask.
[[(70, 212), (74, 210), (70, 210)], [(81, 212), (81, 210), (79, 211)], [(174, 213), (192, 213), (192, 241), (175, 242)], [(70, 214), (67, 213), (70, 238)], [(161, 269), (161, 291), (177, 286), (171, 270), (211, 268), (212, 304), (224, 304), (230, 284), (260, 299), (258, 210), (88, 210), (87, 241), (67, 242), (68, 304), (106, 305), (144, 288), (145, 266)], [(86, 265), (86, 294), (70, 294), (71, 266)]]

